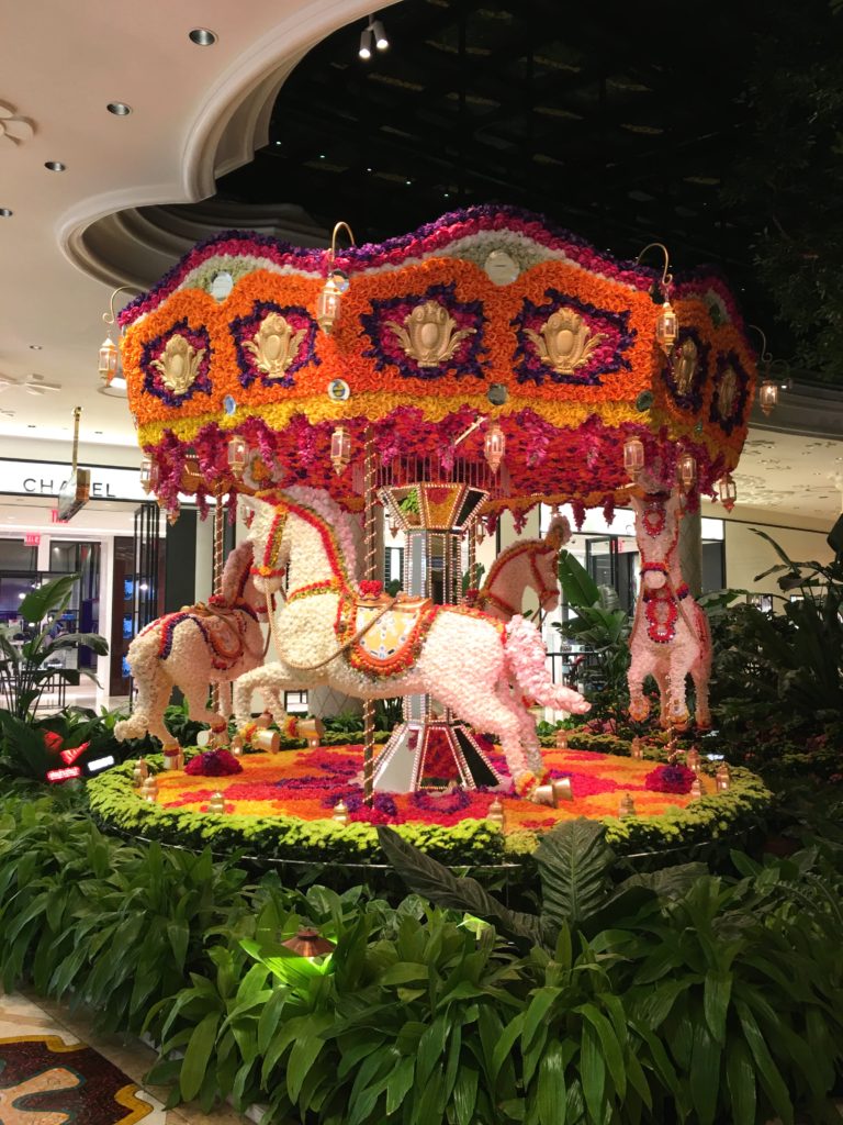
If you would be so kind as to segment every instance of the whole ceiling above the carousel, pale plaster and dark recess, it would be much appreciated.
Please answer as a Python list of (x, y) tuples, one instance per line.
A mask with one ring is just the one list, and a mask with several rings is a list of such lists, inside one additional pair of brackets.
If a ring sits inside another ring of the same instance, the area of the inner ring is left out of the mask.
[[(344, 218), (380, 240), (506, 201), (616, 254), (655, 238), (677, 269), (714, 262), (769, 324), (755, 220), (724, 209), (720, 186), (751, 128), (742, 83), (770, 9), (699, 10), (680, 37), (667, 4), (574, 17), (551, 0), (405, 0), (381, 12), (391, 46), (365, 64), (353, 0), (147, 0), (143, 19), (99, 0), (76, 0), (73, 19), (61, 0), (0, 0), (0, 104), (25, 122), (19, 143), (0, 137), (13, 212), (0, 217), (0, 440), (66, 448), (81, 404), (87, 449), (134, 447), (125, 400), (96, 394), (110, 282), (146, 285), (233, 225), (315, 244)], [(196, 46), (197, 27), (217, 43)], [(33, 374), (60, 389), (34, 396)], [(753, 431), (741, 501), (836, 516), (835, 436), (777, 436), (771, 451)]]

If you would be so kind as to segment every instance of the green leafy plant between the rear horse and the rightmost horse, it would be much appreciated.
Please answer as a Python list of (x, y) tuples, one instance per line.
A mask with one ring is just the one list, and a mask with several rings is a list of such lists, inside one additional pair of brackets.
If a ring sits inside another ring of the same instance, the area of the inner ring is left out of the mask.
[(554, 622), (554, 629), (586, 651), (580, 678), (592, 705), (590, 718), (608, 718), (615, 722), (616, 729), (628, 726), (626, 672), (629, 667), (632, 619), (620, 608), (617, 592), (611, 586), (598, 586), (582, 564), (566, 550), (560, 551), (559, 580), (565, 605), (577, 615), (562, 623)]

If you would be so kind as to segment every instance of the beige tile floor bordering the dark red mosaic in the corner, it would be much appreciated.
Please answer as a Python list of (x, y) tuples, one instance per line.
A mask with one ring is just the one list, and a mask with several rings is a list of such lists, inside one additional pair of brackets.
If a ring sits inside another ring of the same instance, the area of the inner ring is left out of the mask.
[(22, 1035), (58, 1035), (65, 1043), (85, 1043), (140, 1087), (138, 1097), (148, 1101), (152, 1113), (138, 1125), (244, 1125), (245, 1118), (229, 1107), (210, 1114), (191, 1106), (164, 1109), (166, 1091), (148, 1086), (144, 1074), (155, 1061), (155, 1052), (133, 1036), (102, 1035), (91, 1030), (91, 1020), (71, 1012), (62, 1005), (21, 993), (7, 996), (0, 990), (0, 1040)]

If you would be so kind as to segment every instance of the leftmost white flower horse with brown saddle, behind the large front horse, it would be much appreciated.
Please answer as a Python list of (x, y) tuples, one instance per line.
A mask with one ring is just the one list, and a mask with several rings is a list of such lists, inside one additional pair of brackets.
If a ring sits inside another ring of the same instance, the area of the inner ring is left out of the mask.
[[(165, 613), (135, 637), (128, 662), (137, 700), (129, 718), (115, 727), (117, 738), (142, 738), (148, 730), (172, 745), (164, 710), (173, 686), (184, 693), (191, 719), (217, 729), (226, 724), (232, 681), (265, 655), (260, 624), (265, 598), (255, 588), (251, 567), (252, 544), (241, 543), (226, 560), (219, 597)], [(206, 708), (209, 683), (219, 685), (219, 713)]]

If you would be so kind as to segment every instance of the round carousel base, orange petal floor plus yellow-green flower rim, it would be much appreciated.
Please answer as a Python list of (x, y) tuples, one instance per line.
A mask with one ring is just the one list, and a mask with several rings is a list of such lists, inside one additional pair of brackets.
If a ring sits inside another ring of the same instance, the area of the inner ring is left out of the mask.
[[(504, 775), (502, 756), (491, 753)], [(703, 795), (660, 792), (653, 772), (659, 763), (588, 750), (549, 749), (551, 776), (568, 778), (572, 800), (556, 808), (500, 792), (423, 790), (375, 793), (373, 807), (362, 800), (360, 745), (247, 754), (242, 771), (228, 775), (190, 775), (161, 771), (152, 757), (157, 793), (145, 800), (133, 789), (134, 762), (127, 762), (88, 786), (90, 808), (106, 828), (187, 847), (210, 846), (215, 853), (244, 850), (251, 856), (314, 864), (383, 863), (378, 825), (392, 825), (423, 850), (454, 866), (518, 863), (542, 834), (561, 820), (589, 817), (607, 826), (607, 840), (618, 854), (676, 849), (683, 845), (736, 843), (758, 824), (772, 798), (745, 770), (734, 770), (732, 784), (717, 792), (713, 772), (700, 774)], [(224, 811), (209, 811), (219, 794)], [(634, 813), (619, 816), (632, 799)], [(504, 825), (490, 824), (490, 806), (500, 800)], [(348, 822), (333, 819), (343, 801)]]

